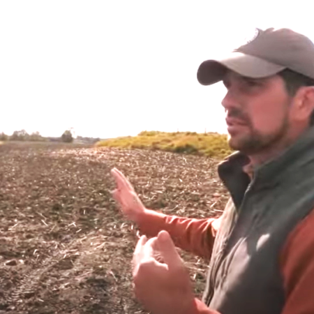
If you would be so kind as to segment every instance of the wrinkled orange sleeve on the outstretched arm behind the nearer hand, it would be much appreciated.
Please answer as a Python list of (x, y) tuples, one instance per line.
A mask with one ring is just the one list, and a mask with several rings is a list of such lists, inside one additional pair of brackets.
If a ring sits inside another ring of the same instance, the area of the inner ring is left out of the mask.
[(183, 218), (168, 216), (157, 211), (147, 210), (138, 222), (140, 231), (148, 237), (155, 237), (158, 232), (169, 232), (174, 244), (183, 249), (209, 259), (214, 245), (219, 218)]

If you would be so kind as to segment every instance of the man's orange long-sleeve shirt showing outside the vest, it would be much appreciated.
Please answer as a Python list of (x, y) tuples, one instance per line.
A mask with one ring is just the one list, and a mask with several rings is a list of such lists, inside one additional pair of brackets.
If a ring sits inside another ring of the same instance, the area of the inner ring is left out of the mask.
[[(181, 218), (147, 211), (140, 220), (139, 227), (149, 237), (156, 236), (160, 230), (166, 230), (176, 246), (209, 259), (219, 218)], [(290, 232), (279, 263), (286, 297), (281, 314), (314, 313), (314, 209)], [(219, 314), (199, 299), (195, 298), (194, 305), (193, 313), (189, 314)]]

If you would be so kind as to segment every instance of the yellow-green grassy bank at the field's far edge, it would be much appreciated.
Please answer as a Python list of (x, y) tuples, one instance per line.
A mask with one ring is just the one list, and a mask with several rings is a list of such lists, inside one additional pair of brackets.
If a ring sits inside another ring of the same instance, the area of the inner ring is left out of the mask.
[(103, 140), (97, 142), (96, 146), (159, 149), (174, 153), (200, 154), (215, 158), (224, 158), (232, 152), (227, 144), (227, 135), (218, 133), (143, 131), (137, 136)]

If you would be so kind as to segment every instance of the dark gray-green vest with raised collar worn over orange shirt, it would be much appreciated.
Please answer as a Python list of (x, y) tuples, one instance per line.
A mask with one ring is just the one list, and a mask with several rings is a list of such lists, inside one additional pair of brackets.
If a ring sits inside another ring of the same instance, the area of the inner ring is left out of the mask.
[(257, 167), (252, 181), (242, 170), (246, 163), (248, 158), (236, 153), (218, 166), (231, 199), (216, 235), (203, 301), (223, 314), (280, 314), (285, 304), (280, 253), (290, 232), (314, 209), (314, 127)]

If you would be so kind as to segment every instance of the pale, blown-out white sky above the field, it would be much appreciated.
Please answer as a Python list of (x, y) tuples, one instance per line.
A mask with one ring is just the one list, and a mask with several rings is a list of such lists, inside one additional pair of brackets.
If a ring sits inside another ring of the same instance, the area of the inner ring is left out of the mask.
[(254, 27), (314, 39), (312, 1), (0, 0), (0, 132), (225, 133), (197, 68)]

